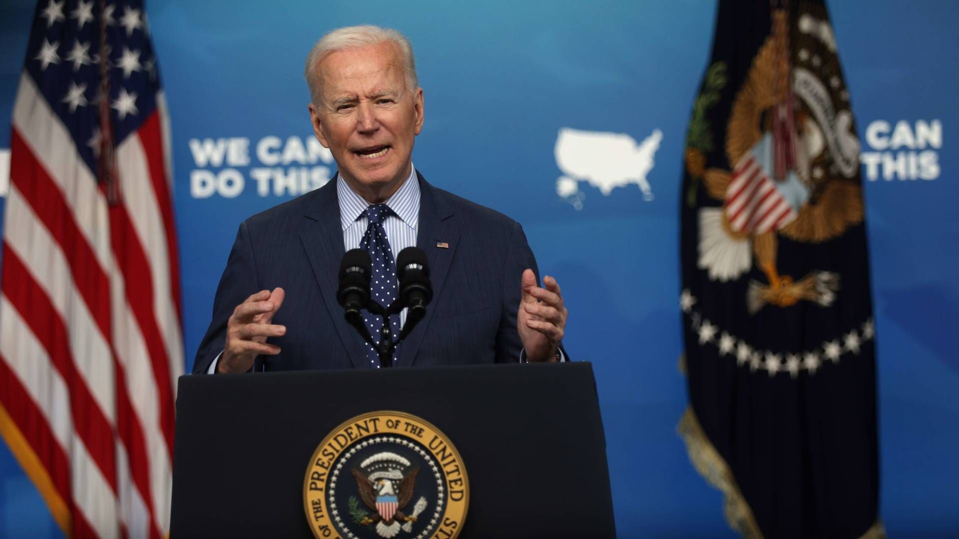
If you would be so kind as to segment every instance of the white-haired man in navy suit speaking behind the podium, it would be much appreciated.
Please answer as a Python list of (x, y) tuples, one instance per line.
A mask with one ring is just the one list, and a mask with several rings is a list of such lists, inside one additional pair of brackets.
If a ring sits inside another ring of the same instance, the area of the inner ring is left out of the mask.
[[(430, 263), (433, 303), (394, 365), (562, 361), (567, 310), (554, 279), (537, 286), (522, 227), (413, 168), (424, 107), (407, 38), (335, 30), (307, 57), (306, 80), (316, 138), (339, 171), (240, 225), (194, 372), (245, 372), (257, 357), (265, 370), (380, 366), (336, 297), (339, 261), (357, 247), (370, 253), (384, 305), (395, 298), (397, 253), (418, 246)], [(365, 316), (370, 329), (377, 318)]]

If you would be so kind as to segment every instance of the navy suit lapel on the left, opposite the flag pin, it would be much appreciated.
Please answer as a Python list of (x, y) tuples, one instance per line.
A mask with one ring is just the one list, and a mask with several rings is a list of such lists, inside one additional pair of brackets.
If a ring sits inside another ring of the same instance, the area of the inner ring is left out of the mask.
[[(343, 230), (339, 223), (339, 200), (337, 199), (337, 178), (329, 181), (316, 193), (313, 204), (304, 214), (300, 225), (300, 240), (306, 250), (310, 266), (319, 285), (319, 293), (330, 312), (333, 325), (339, 333), (350, 361), (358, 368), (369, 366), (363, 352), (363, 343), (355, 329), (346, 323), (343, 309), (337, 302), (339, 287), (339, 261), (343, 258)], [(322, 354), (321, 350), (316, 351)]]

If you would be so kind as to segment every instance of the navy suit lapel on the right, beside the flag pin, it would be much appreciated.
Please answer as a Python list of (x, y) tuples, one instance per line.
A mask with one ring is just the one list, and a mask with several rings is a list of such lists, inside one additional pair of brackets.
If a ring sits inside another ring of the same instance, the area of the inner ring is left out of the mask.
[[(426, 252), (430, 262), (430, 281), (433, 284), (433, 301), (436, 305), (439, 294), (443, 293), (443, 284), (450, 271), (450, 264), (456, 254), (459, 244), (459, 223), (453, 219), (453, 206), (443, 193), (426, 182), (419, 171), (416, 172), (420, 184), (420, 212), (416, 231), (416, 246)], [(437, 247), (443, 242), (447, 248)], [(340, 316), (342, 317), (342, 316)], [(426, 317), (416, 324), (416, 328), (400, 345), (400, 357), (397, 362), (401, 366), (409, 366), (416, 357), (420, 343), (430, 322), (433, 320), (433, 309), (427, 307)]]

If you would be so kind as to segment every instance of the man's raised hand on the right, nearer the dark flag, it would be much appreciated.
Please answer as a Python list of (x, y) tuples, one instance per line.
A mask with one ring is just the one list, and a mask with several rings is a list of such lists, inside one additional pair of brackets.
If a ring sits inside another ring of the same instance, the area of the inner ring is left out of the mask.
[(523, 272), (523, 299), (516, 315), (516, 330), (520, 332), (530, 363), (556, 361), (556, 350), (563, 340), (569, 314), (563, 306), (556, 279), (549, 275), (543, 277), (543, 286), (546, 288), (536, 286), (532, 269)]

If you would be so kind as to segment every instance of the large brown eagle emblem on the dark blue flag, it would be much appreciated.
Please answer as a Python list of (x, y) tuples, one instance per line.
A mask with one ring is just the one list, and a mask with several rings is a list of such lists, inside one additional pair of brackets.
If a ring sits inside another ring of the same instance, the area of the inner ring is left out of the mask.
[(725, 70), (716, 62), (707, 72), (685, 155), (690, 207), (700, 183), (722, 202), (699, 208), (697, 266), (719, 282), (758, 266), (765, 282), (750, 283), (750, 314), (802, 300), (828, 307), (839, 292), (836, 272), (813, 270), (794, 279), (777, 260), (782, 239), (822, 244), (863, 221), (859, 144), (823, 8), (801, 4), (794, 28), (784, 10), (772, 13), (772, 32), (732, 104), (725, 141), (732, 170), (706, 163), (714, 146), (708, 109), (720, 101)]

